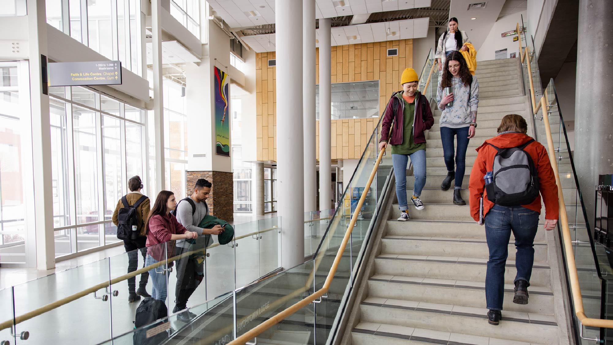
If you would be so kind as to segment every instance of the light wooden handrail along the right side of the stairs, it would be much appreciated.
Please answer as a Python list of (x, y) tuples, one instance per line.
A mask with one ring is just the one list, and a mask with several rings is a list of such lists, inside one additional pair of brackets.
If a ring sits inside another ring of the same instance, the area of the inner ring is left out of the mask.
[[(517, 32), (519, 33), (519, 23), (517, 23)], [(583, 306), (583, 297), (581, 295), (581, 287), (579, 286), (579, 276), (577, 274), (577, 265), (574, 258), (573, 241), (571, 240), (570, 227), (568, 226), (568, 214), (566, 214), (566, 204), (564, 202), (564, 195), (562, 193), (562, 183), (560, 182), (560, 173), (558, 172), (558, 164), (556, 162), (554, 140), (551, 134), (551, 127), (549, 125), (549, 102), (547, 99), (547, 93), (544, 92), (543, 96), (539, 99), (539, 102), (535, 102), (534, 85), (532, 80), (531, 68), (530, 68), (530, 49), (525, 47), (524, 54), (522, 55), (522, 47), (520, 40), (520, 58), (522, 63), (526, 59), (528, 67), (528, 78), (530, 81), (530, 95), (532, 99), (533, 115), (538, 113), (540, 108), (543, 108), (543, 124), (545, 127), (545, 135), (547, 137), (547, 153), (549, 154), (549, 162), (554, 170), (555, 183), (558, 187), (558, 207), (560, 208), (560, 221), (558, 226), (562, 229), (562, 240), (566, 257), (566, 264), (568, 265), (568, 279), (571, 287), (571, 295), (573, 296), (573, 308), (579, 322), (588, 327), (603, 327), (613, 328), (613, 320), (606, 319), (593, 319), (585, 315)], [(583, 328), (581, 328), (582, 330)]]

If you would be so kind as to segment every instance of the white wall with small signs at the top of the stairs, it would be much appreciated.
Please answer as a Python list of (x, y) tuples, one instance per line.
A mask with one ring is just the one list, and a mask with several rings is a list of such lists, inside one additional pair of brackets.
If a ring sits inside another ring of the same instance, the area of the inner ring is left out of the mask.
[(495, 59), (494, 52), (504, 48), (507, 50), (507, 58), (511, 53), (517, 53), (517, 56), (519, 56), (519, 42), (513, 42), (515, 35), (501, 37), (500, 34), (516, 29), (517, 23), (521, 26), (522, 15), (525, 18), (526, 11), (504, 16), (494, 23), (481, 48), (477, 51), (477, 61), (493, 60)]

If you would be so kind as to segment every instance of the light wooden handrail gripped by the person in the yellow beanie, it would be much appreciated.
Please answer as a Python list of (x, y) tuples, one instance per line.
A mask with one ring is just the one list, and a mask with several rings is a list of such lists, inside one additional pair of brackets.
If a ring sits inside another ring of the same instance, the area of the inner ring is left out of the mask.
[[(435, 60), (436, 61), (436, 60)], [(428, 84), (430, 82), (430, 77), (432, 77), (432, 71), (434, 69), (434, 66), (436, 66), (436, 63), (432, 64), (432, 67), (430, 67), (430, 74), (428, 75), (428, 81), (426, 82), (426, 85), (424, 87), (424, 91), (422, 93), (425, 93), (425, 91), (428, 88)], [(390, 128), (391, 129), (391, 128)], [(228, 345), (238, 345), (238, 344), (245, 344), (247, 343), (250, 339), (255, 338), (258, 335), (261, 335), (263, 332), (265, 332), (268, 328), (273, 327), (274, 325), (278, 324), (279, 322), (283, 321), (286, 317), (290, 316), (291, 314), (294, 314), (295, 312), (299, 311), (300, 309), (304, 308), (305, 306), (309, 305), (309, 303), (313, 303), (313, 301), (317, 300), (319, 297), (325, 295), (328, 292), (328, 289), (330, 288), (330, 284), (332, 283), (332, 279), (334, 278), (334, 275), (337, 271), (338, 268), (338, 264), (340, 263), (341, 258), (343, 257), (343, 252), (345, 252), (345, 248), (347, 246), (347, 243), (349, 241), (349, 238), (351, 238), (351, 232), (354, 228), (354, 226), (356, 225), (356, 221), (357, 221), (357, 217), (360, 213), (360, 211), (362, 210), (362, 205), (364, 204), (364, 200), (366, 199), (366, 195), (368, 194), (369, 190), (370, 190), (370, 185), (373, 182), (376, 172), (379, 168), (379, 164), (381, 164), (381, 159), (383, 158), (383, 154), (385, 153), (385, 148), (383, 148), (381, 151), (379, 151), (379, 154), (377, 156), (377, 160), (375, 162), (375, 166), (373, 167), (373, 170), (370, 173), (370, 177), (368, 178), (368, 182), (365, 184), (364, 186), (364, 192), (362, 192), (362, 195), (360, 196), (360, 200), (357, 202), (356, 205), (356, 210), (354, 210), (354, 213), (351, 217), (351, 221), (349, 222), (349, 226), (347, 227), (347, 230), (345, 232), (345, 237), (343, 237), (343, 241), (341, 242), (338, 251), (337, 251), (337, 255), (334, 257), (334, 262), (332, 263), (332, 266), (330, 267), (330, 271), (326, 277), (326, 281), (324, 282), (324, 285), (321, 287), (321, 289), (313, 292), (313, 294), (308, 295), (308, 297), (303, 298), (300, 301), (297, 301), (296, 303), (294, 303), (294, 305), (291, 305), (289, 307), (287, 307), (286, 309), (284, 309), (283, 311), (281, 311), (280, 313), (277, 313), (274, 316), (271, 316), (270, 318), (268, 318), (267, 320), (265, 320), (264, 322), (262, 322), (261, 324), (257, 325), (254, 328), (251, 328), (251, 330), (249, 330), (248, 332), (245, 332), (243, 335), (238, 336), (238, 338), (234, 339), (233, 341), (230, 341), (230, 343), (228, 343)], [(327, 237), (327, 240), (330, 240), (330, 237)], [(323, 256), (320, 256), (318, 259), (321, 260)], [(310, 275), (310, 278), (307, 279), (307, 284), (305, 284), (304, 287), (301, 287), (297, 290), (294, 290), (294, 292), (292, 292), (289, 295), (284, 296), (283, 298), (280, 298), (279, 300), (275, 301), (275, 306), (278, 305), (283, 305), (283, 303), (285, 303), (287, 300), (290, 300), (291, 298), (294, 297), (298, 297), (300, 296), (303, 292), (308, 291), (311, 287), (311, 282), (314, 278), (314, 274), (316, 272), (316, 267), (318, 267), (318, 263), (316, 263), (313, 267), (313, 271)], [(270, 308), (270, 307), (269, 307)]]

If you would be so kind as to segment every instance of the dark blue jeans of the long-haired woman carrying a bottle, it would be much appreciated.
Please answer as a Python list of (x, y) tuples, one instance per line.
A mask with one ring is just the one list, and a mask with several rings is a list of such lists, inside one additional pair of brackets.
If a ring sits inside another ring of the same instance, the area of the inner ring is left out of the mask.
[[(454, 171), (455, 167), (455, 187), (462, 188), (462, 180), (466, 170), (466, 149), (468, 148), (468, 129), (470, 126), (462, 128), (441, 127), (441, 142), (443, 142), (443, 155), (447, 171)], [(457, 149), (454, 147), (454, 135), (457, 135)], [(455, 151), (455, 161), (454, 161)]]

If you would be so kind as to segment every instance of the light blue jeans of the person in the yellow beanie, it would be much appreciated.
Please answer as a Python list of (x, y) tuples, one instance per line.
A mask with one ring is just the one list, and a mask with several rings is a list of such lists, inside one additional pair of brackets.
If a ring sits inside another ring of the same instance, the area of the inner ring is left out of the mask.
[(392, 154), (392, 165), (394, 165), (394, 176), (396, 177), (396, 197), (400, 211), (408, 210), (406, 201), (406, 165), (409, 157), (413, 163), (413, 175), (415, 183), (413, 185), (413, 195), (419, 197), (425, 186), (425, 150), (419, 150), (411, 154)]

